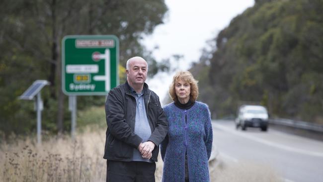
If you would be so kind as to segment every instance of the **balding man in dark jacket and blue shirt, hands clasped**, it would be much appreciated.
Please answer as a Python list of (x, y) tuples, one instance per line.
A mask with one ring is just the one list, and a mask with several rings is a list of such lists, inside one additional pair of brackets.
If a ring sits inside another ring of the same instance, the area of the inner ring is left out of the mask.
[(145, 83), (147, 62), (133, 57), (126, 69), (127, 82), (112, 89), (105, 103), (106, 181), (155, 182), (155, 162), (167, 133), (167, 119), (158, 95)]

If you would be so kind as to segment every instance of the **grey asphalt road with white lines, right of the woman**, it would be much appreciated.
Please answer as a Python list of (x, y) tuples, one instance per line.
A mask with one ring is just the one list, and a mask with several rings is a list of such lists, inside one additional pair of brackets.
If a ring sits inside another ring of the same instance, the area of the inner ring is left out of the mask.
[(323, 142), (268, 128), (236, 130), (234, 121), (213, 120), (219, 155), (231, 163), (251, 161), (269, 165), (285, 182), (323, 182)]

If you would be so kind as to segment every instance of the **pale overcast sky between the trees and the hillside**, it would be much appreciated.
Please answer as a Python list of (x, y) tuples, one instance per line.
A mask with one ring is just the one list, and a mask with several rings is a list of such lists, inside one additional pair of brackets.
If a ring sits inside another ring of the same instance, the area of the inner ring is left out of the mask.
[[(207, 46), (206, 41), (214, 39), (232, 18), (251, 7), (254, 0), (165, 0), (165, 3), (168, 6), (165, 23), (145, 37), (143, 44), (154, 50), (157, 60), (174, 54), (183, 55), (179, 64), (172, 65), (176, 72), (188, 70), (192, 62), (197, 62), (202, 48)], [(173, 75), (158, 73), (146, 81), (161, 102), (167, 96)]]

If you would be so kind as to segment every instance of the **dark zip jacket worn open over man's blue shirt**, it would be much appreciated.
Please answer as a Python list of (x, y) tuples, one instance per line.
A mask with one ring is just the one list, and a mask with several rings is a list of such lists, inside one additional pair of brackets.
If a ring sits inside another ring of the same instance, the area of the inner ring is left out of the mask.
[[(156, 144), (152, 159), (157, 162), (159, 144), (167, 134), (168, 122), (161, 108), (158, 95), (144, 84), (144, 101), (152, 135), (148, 141)], [(126, 82), (113, 88), (105, 102), (106, 130), (104, 159), (113, 161), (131, 161), (134, 148), (142, 141), (135, 134), (136, 98)]]

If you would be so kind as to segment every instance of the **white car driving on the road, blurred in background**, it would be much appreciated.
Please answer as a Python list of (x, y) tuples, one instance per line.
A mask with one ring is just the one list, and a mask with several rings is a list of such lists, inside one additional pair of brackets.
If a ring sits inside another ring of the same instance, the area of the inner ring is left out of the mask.
[(268, 128), (268, 112), (261, 105), (242, 105), (238, 111), (236, 118), (236, 128), (245, 130), (247, 127), (258, 127), (261, 131), (267, 131)]

